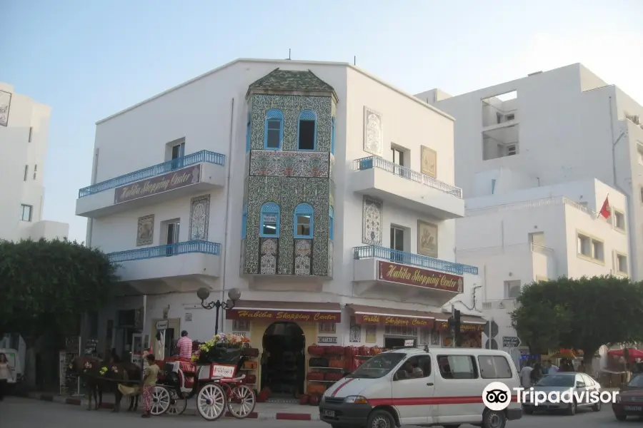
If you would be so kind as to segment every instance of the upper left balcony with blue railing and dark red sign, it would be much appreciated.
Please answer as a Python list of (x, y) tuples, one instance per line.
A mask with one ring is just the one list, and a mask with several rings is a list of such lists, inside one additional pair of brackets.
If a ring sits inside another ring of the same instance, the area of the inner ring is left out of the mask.
[(199, 151), (81, 188), (76, 215), (99, 218), (143, 205), (223, 188), (226, 156)]

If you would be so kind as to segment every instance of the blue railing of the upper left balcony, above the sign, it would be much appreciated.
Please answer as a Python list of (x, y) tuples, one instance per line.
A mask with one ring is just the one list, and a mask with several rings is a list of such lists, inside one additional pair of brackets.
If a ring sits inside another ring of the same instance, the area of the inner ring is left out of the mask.
[(101, 181), (100, 183), (88, 185), (86, 188), (81, 188), (81, 190), (78, 191), (78, 197), (83, 198), (84, 196), (93, 195), (94, 193), (99, 193), (103, 190), (114, 189), (121, 185), (156, 177), (156, 175), (170, 173), (173, 170), (196, 165), (196, 163), (214, 163), (214, 165), (222, 166), (226, 164), (226, 156), (221, 153), (214, 153), (206, 150), (198, 151), (187, 156), (182, 156), (181, 158), (172, 159), (171, 161), (134, 171), (133, 173), (120, 175), (116, 178), (110, 178), (109, 180)]

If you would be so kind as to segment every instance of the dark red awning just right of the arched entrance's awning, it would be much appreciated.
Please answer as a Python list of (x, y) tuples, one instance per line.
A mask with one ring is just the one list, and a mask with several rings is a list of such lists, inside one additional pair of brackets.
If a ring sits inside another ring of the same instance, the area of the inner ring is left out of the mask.
[(399, 327), (433, 328), (439, 314), (421, 310), (392, 309), (362, 305), (346, 305), (353, 311), (357, 324), (395, 325)]

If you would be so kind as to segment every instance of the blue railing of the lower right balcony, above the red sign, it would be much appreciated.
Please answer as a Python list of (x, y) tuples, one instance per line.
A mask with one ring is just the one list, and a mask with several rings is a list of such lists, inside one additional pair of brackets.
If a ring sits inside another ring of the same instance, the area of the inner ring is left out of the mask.
[(382, 260), (389, 260), (394, 263), (404, 263), (404, 265), (442, 270), (442, 272), (454, 273), (456, 275), (464, 275), (465, 273), (478, 275), (478, 268), (475, 266), (447, 262), (447, 260), (440, 260), (427, 255), (406, 253), (404, 251), (393, 250), (392, 248), (380, 247), (379, 245), (355, 247), (353, 248), (353, 258), (355, 260), (379, 258)]

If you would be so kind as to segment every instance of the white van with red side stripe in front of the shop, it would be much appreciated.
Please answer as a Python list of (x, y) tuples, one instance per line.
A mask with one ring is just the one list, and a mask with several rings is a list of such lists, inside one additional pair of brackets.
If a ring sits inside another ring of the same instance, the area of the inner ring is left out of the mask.
[[(482, 402), (488, 384), (512, 389), (506, 409)], [(457, 428), (474, 424), (504, 428), (522, 417), (513, 388), (519, 375), (507, 352), (478, 348), (403, 348), (382, 352), (327, 389), (320, 419), (332, 428), (394, 428), (402, 425)]]

